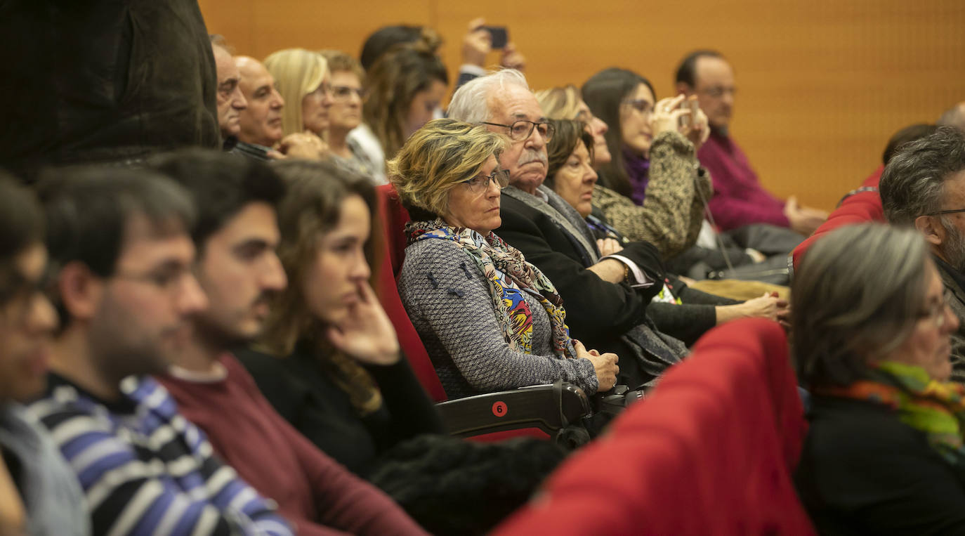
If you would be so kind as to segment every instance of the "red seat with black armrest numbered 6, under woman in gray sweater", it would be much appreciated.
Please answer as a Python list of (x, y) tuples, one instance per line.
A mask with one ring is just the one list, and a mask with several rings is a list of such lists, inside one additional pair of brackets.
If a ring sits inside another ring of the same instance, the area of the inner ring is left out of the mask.
[(454, 436), (496, 440), (507, 437), (554, 437), (579, 443), (585, 438), (582, 419), (589, 416), (590, 401), (582, 389), (558, 381), (511, 391), (447, 401), (426, 348), (419, 339), (399, 297), (396, 278), (405, 258), (402, 228), (409, 214), (400, 205), (391, 184), (375, 188), (378, 218), (383, 233), (381, 263), (377, 267), (375, 293), (396, 328), (402, 352), (429, 396), (437, 402), (443, 422)]

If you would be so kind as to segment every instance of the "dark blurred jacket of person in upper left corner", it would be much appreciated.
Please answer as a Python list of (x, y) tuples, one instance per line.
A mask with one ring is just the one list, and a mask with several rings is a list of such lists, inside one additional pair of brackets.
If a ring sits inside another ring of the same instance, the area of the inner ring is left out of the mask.
[(197, 0), (0, 3), (0, 165), (215, 148), (215, 64)]

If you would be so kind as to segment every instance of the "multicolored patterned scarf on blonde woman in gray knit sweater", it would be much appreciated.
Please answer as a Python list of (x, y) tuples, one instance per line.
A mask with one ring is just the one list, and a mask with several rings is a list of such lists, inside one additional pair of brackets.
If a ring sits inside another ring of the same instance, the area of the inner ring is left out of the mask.
[(491, 232), (483, 237), (472, 229), (447, 225), (441, 219), (410, 221), (405, 224), (405, 235), (408, 243), (427, 239), (452, 240), (476, 263), (489, 283), (489, 294), (498, 314), (496, 320), (510, 348), (524, 353), (533, 350), (533, 312), (523, 299), (523, 293), (529, 292), (549, 315), (553, 353), (575, 357), (570, 351), (563, 299), (553, 283), (539, 268), (527, 263), (518, 249)]

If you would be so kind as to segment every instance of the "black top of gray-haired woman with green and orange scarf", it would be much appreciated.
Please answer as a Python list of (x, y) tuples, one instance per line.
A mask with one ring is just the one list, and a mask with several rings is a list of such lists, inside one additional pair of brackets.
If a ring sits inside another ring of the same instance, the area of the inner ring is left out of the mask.
[(814, 396), (798, 493), (821, 534), (965, 534), (965, 478), (871, 402)]

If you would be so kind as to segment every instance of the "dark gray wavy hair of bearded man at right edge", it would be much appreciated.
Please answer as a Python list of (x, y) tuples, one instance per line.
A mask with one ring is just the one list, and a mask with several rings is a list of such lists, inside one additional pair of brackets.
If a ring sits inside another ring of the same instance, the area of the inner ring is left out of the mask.
[(902, 145), (881, 175), (878, 191), (885, 217), (895, 224), (942, 210), (945, 182), (965, 169), (965, 132), (939, 127), (931, 135)]

